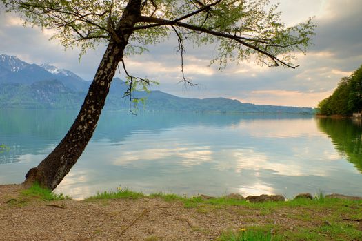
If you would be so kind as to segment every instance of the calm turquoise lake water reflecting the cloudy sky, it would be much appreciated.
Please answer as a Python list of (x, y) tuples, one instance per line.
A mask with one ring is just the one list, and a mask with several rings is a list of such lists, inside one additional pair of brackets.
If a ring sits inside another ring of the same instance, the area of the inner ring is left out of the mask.
[[(0, 183), (22, 182), (76, 112), (0, 110)], [(86, 151), (56, 191), (80, 199), (143, 193), (362, 196), (362, 127), (310, 116), (103, 112)]]

